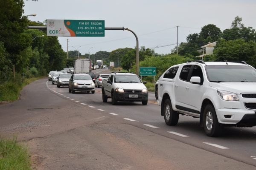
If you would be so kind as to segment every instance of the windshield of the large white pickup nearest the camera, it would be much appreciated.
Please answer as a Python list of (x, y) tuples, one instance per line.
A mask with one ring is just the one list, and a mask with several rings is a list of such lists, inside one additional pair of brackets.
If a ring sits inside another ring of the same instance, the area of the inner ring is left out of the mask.
[(210, 82), (256, 82), (256, 71), (245, 65), (207, 65)]

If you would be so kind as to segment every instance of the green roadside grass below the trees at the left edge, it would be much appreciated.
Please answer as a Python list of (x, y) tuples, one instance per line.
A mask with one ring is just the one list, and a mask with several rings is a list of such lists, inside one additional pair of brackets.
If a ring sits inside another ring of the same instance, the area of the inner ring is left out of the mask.
[(0, 85), (0, 102), (1, 101), (15, 101), (20, 95), (20, 91), (25, 85), (40, 79), (41, 77), (24, 79), (16, 81), (9, 81)]

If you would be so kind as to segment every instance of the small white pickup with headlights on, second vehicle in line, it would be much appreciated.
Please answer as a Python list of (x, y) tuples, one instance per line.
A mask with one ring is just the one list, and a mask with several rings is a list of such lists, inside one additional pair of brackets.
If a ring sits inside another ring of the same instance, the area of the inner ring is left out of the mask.
[(111, 98), (112, 105), (117, 101), (148, 103), (148, 89), (140, 78), (133, 73), (111, 73), (108, 79), (102, 81), (102, 100)]

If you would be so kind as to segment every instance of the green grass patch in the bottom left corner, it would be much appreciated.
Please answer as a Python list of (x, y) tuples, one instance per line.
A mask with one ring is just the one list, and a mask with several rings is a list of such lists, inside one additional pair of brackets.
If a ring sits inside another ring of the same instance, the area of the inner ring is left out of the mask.
[(31, 170), (27, 148), (18, 144), (16, 139), (0, 136), (0, 170)]

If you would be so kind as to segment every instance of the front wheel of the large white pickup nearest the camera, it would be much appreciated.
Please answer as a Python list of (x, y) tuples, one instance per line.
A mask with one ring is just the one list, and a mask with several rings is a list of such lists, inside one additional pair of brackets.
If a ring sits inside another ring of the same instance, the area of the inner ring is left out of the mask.
[(204, 108), (203, 124), (207, 136), (219, 136), (223, 130), (223, 125), (218, 122), (215, 108), (211, 104)]

